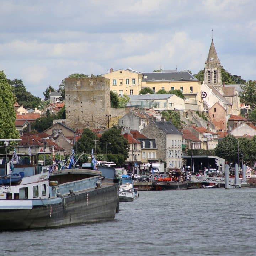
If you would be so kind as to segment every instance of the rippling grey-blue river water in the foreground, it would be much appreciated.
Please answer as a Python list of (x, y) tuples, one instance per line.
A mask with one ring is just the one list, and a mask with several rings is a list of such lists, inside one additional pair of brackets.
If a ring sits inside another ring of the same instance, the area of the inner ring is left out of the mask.
[(256, 190), (140, 191), (113, 222), (0, 233), (1, 255), (256, 255)]

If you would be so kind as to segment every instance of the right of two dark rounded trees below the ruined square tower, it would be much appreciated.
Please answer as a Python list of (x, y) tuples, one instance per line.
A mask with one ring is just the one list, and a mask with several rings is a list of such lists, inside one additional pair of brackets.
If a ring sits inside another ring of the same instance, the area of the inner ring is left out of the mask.
[(128, 143), (127, 140), (123, 137), (123, 135), (121, 135), (121, 127), (111, 127), (111, 129), (107, 130), (102, 134), (99, 140), (102, 152), (106, 152), (106, 146), (108, 145), (108, 153), (122, 154), (125, 158), (128, 157)]

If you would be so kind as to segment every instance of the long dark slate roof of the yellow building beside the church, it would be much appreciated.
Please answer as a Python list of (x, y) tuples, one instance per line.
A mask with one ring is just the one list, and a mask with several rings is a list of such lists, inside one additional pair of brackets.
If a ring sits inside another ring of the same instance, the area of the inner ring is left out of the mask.
[(142, 81), (199, 81), (187, 71), (143, 73)]

